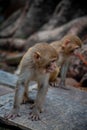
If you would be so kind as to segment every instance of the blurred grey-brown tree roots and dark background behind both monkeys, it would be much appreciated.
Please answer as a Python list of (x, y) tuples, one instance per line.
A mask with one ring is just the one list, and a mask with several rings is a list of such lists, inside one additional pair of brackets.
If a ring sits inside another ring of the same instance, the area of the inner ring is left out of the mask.
[[(27, 49), (76, 34), (87, 61), (87, 4), (79, 0), (0, 0), (0, 70), (17, 73)], [(87, 62), (73, 57), (67, 77), (87, 87)]]

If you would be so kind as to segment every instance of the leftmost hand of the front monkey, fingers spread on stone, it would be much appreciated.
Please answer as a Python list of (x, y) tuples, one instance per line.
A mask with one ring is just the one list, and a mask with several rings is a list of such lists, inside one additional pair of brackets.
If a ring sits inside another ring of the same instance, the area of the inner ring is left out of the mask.
[(20, 117), (20, 114), (17, 109), (12, 109), (8, 114), (5, 114), (5, 119), (15, 119), (16, 117)]

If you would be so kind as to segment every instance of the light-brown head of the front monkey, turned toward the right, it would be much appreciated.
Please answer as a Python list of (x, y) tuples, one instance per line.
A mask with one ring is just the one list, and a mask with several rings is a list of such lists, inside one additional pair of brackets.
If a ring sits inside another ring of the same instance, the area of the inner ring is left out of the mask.
[(34, 63), (36, 68), (44, 70), (44, 72), (53, 72), (56, 69), (56, 61), (58, 60), (58, 53), (47, 43), (37, 44), (33, 52)]

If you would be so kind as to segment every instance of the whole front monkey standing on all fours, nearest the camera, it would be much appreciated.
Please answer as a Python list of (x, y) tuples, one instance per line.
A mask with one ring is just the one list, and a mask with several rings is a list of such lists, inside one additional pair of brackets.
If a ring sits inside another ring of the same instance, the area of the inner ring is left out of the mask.
[(31, 101), (28, 97), (28, 84), (36, 81), (38, 92), (36, 100), (30, 113), (32, 120), (40, 119), (40, 112), (49, 87), (49, 76), (56, 69), (58, 54), (56, 50), (47, 43), (37, 43), (31, 47), (20, 62), (20, 74), (16, 84), (13, 109), (5, 115), (6, 119), (14, 119), (19, 116), (20, 104)]

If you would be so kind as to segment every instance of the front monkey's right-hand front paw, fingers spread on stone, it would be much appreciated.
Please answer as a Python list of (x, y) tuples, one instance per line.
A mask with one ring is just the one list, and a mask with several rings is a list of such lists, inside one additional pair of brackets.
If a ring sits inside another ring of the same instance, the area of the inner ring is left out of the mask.
[(36, 107), (34, 107), (32, 109), (32, 112), (30, 112), (29, 119), (31, 119), (32, 121), (40, 120), (39, 111), (38, 111), (38, 109)]

